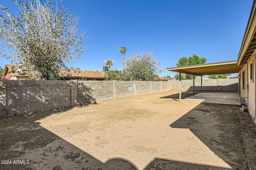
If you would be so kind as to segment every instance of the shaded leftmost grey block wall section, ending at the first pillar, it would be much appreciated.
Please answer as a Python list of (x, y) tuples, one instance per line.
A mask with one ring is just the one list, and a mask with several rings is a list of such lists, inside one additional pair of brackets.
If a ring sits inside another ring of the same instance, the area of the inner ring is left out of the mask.
[[(21, 115), (71, 106), (69, 81), (5, 81), (6, 109), (1, 111), (1, 115)], [(0, 96), (4, 96), (4, 91), (1, 90)]]

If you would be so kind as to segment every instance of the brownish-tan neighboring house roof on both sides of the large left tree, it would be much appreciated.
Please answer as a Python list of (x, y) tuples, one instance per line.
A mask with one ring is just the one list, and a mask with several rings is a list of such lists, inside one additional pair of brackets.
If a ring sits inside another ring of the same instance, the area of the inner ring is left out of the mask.
[[(6, 64), (4, 68), (4, 75), (8, 78), (13, 78), (17, 76), (27, 76), (28, 74), (24, 74), (26, 71), (26, 67), (22, 67), (20, 71), (17, 71), (19, 66), (14, 64)], [(98, 71), (86, 71), (86, 70), (67, 70), (61, 69), (60, 70), (60, 77), (61, 78), (68, 78), (67, 75), (70, 75), (71, 78), (87, 78), (87, 79), (105, 79), (104, 73)], [(69, 76), (69, 78), (70, 78)]]

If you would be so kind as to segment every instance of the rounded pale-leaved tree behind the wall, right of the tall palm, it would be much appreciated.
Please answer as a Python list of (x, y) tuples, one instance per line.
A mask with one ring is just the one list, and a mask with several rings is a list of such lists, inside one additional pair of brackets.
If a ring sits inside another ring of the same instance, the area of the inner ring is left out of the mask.
[(161, 61), (153, 56), (153, 52), (144, 50), (138, 54), (127, 57), (126, 71), (132, 80), (150, 81), (154, 80), (155, 74), (163, 72), (160, 67)]

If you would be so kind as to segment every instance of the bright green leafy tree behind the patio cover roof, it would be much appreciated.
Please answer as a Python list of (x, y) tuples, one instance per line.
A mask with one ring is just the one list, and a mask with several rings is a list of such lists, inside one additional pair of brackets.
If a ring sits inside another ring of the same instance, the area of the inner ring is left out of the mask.
[[(196, 54), (192, 54), (192, 56), (189, 56), (189, 57), (186, 57), (186, 56), (181, 57), (178, 60), (178, 63), (176, 65), (178, 67), (180, 67), (180, 66), (191, 66), (191, 65), (196, 65), (196, 64), (205, 64), (206, 62), (207, 62), (207, 59), (205, 57), (199, 57)], [(176, 76), (176, 77), (179, 77), (179, 76)], [(182, 74), (182, 78), (184, 78), (185, 80), (193, 79), (193, 75)], [(195, 76), (195, 78), (196, 78), (196, 76)], [(184, 79), (182, 79), (182, 80), (184, 80)]]

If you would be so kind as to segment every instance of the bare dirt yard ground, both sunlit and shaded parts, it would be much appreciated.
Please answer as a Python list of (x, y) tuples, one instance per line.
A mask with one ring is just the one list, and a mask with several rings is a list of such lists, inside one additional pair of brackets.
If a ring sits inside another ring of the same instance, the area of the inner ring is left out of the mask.
[(0, 169), (256, 169), (248, 113), (177, 99), (169, 91), (1, 118)]

